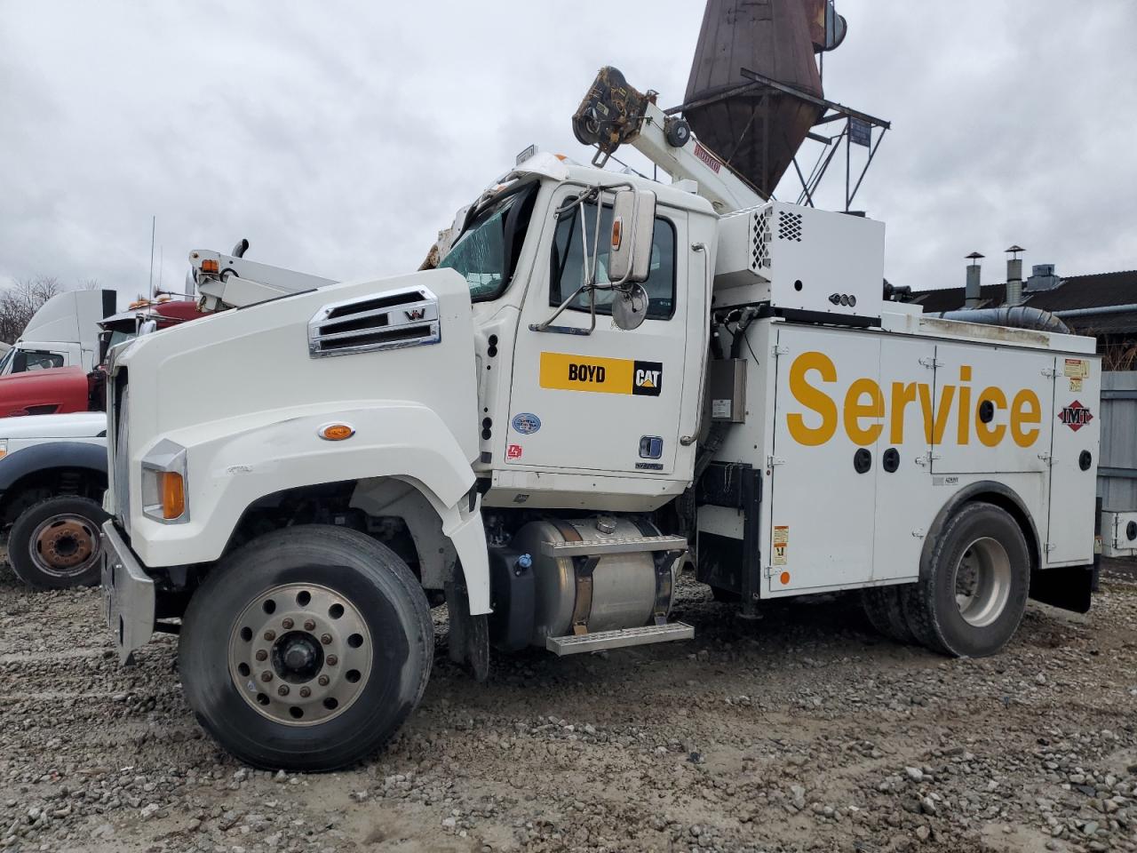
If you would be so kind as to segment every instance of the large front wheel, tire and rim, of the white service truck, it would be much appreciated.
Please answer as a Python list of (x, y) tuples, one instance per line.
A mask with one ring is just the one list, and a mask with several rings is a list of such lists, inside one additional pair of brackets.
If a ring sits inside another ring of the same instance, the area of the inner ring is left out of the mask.
[(217, 566), (179, 661), (202, 727), (241, 761), (334, 770), (374, 753), (422, 698), (434, 655), (414, 574), (374, 539), (305, 525)]

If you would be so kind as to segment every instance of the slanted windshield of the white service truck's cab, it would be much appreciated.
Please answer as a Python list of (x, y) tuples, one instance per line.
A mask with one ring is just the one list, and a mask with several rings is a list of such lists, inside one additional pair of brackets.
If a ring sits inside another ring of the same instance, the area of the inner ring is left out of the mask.
[(497, 299), (509, 284), (525, 239), (538, 184), (482, 210), (447, 254), (440, 268), (460, 273), (473, 301)]

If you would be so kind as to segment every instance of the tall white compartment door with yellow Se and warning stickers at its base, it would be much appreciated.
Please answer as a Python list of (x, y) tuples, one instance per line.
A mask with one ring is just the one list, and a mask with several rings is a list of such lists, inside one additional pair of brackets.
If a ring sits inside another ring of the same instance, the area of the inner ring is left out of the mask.
[[(885, 429), (880, 339), (790, 326), (778, 331), (775, 350), (773, 457), (763, 497), (769, 594), (863, 583), (872, 577)], [(858, 450), (870, 454), (866, 469)]]

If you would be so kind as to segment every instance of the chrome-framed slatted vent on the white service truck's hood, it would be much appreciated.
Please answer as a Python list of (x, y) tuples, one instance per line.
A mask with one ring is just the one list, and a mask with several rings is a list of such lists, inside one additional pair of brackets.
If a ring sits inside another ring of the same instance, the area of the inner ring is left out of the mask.
[(308, 322), (313, 358), (417, 347), (441, 338), (438, 297), (426, 288), (325, 305)]

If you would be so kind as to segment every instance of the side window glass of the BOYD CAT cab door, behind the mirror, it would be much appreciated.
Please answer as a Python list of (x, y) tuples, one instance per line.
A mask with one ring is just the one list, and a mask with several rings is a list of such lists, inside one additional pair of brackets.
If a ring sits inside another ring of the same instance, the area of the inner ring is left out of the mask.
[[(557, 222), (553, 239), (551, 271), (549, 280), (549, 305), (558, 306), (576, 288), (584, 283), (584, 249), (581, 248), (581, 223), (587, 233), (588, 250), (591, 256), (592, 241), (596, 239), (596, 205), (586, 205), (581, 217), (580, 207), (565, 214)], [(596, 283), (607, 284), (608, 279), (608, 241), (612, 233), (612, 206), (605, 205), (600, 213), (600, 246), (597, 257)], [(648, 295), (648, 320), (670, 320), (675, 313), (675, 226), (663, 216), (655, 217), (655, 230), (652, 235), (652, 265), (644, 289)], [(596, 313), (611, 314), (611, 290), (596, 291)], [(588, 310), (588, 293), (579, 293), (568, 303), (573, 310)]]

